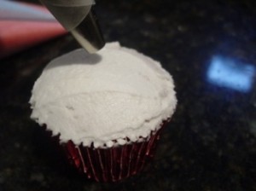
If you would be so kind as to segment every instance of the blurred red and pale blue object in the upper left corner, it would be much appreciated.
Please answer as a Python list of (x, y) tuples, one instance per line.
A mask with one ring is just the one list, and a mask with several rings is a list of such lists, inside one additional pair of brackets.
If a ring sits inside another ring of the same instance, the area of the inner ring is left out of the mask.
[(65, 33), (43, 6), (0, 2), (0, 58)]

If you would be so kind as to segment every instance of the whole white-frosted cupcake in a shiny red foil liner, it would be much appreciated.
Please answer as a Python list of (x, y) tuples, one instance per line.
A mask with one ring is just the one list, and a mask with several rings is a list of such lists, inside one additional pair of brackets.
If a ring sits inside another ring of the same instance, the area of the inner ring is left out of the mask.
[(142, 171), (177, 99), (157, 61), (119, 43), (76, 49), (50, 61), (35, 82), (32, 116), (58, 137), (67, 158), (98, 182)]

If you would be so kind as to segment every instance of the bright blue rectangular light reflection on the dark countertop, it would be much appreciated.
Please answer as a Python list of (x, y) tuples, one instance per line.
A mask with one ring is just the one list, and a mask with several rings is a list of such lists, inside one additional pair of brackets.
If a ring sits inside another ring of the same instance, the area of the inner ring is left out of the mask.
[(207, 80), (220, 87), (248, 92), (252, 89), (254, 74), (253, 65), (215, 55), (207, 71)]

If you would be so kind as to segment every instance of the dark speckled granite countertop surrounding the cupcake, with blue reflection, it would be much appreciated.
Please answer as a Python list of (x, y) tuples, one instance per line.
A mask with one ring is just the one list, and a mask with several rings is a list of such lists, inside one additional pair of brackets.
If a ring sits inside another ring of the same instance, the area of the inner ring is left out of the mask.
[(92, 182), (29, 119), (44, 66), (79, 47), (66, 35), (0, 61), (0, 190), (256, 190), (256, 2), (97, 1), (96, 12), (107, 41), (150, 55), (175, 80), (177, 111), (154, 159), (122, 182)]

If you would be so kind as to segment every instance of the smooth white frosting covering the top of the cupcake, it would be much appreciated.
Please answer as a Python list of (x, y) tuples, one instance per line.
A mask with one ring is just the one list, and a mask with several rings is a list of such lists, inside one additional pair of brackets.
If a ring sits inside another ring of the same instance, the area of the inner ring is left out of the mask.
[(159, 62), (119, 43), (95, 55), (77, 49), (51, 61), (34, 84), (32, 119), (61, 142), (96, 148), (125, 144), (126, 137), (137, 142), (172, 116), (173, 89)]

